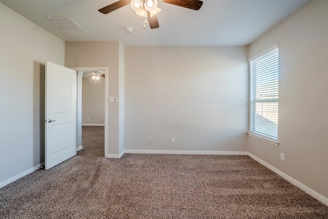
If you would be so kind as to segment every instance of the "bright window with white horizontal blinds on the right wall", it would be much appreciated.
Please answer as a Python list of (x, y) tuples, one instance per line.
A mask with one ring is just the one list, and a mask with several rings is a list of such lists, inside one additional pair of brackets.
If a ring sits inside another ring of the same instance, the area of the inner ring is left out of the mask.
[(278, 140), (278, 48), (250, 61), (250, 132)]

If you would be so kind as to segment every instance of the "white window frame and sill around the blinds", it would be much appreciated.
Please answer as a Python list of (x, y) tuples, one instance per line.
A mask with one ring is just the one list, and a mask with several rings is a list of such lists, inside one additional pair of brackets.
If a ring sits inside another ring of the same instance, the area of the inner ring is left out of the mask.
[[(254, 56), (254, 57), (252, 57), (252, 58), (249, 59), (249, 76), (250, 76), (250, 79), (249, 79), (249, 87), (250, 87), (249, 88), (249, 131), (247, 133), (249, 135), (253, 136), (253, 137), (259, 138), (260, 140), (263, 140), (265, 142), (271, 143), (273, 145), (278, 145), (279, 144), (279, 142), (278, 142), (278, 123), (277, 123), (277, 135), (276, 135), (276, 138), (275, 138), (275, 136), (272, 137), (272, 136), (270, 136), (268, 134), (265, 134), (265, 133), (261, 133), (261, 132), (257, 132), (257, 131), (252, 130), (252, 123), (253, 123), (253, 121), (252, 121), (252, 118), (253, 118), (252, 112), (254, 111), (254, 110), (252, 111), (252, 105), (254, 103), (256, 104), (256, 103), (260, 103), (260, 102), (262, 102), (262, 103), (275, 103), (276, 102), (277, 103), (277, 111), (278, 111), (278, 107), (279, 107), (278, 97), (279, 96), (277, 96), (277, 98), (268, 99), (268, 101), (263, 101), (262, 100), (262, 101), (253, 102), (253, 99), (254, 99), (255, 96), (252, 96), (252, 90), (251, 90), (252, 89), (252, 83), (253, 83), (251, 81), (252, 80), (252, 65), (251, 64), (252, 64), (253, 61), (256, 61), (256, 59), (258, 59), (258, 58), (260, 58), (260, 57), (262, 57), (264, 55), (267, 55), (268, 53), (271, 53), (271, 52), (273, 52), (274, 50), (277, 50), (277, 49), (279, 49), (279, 45), (278, 44), (275, 45), (275, 46), (273, 46), (273, 47), (271, 47), (271, 48), (269, 48), (269, 49), (267, 49), (267, 50), (265, 50), (265, 51), (263, 51), (263, 52), (261, 52), (261, 53), (259, 53), (258, 55), (256, 55), (256, 56)], [(279, 50), (277, 52), (278, 52), (278, 84), (277, 84), (277, 87), (279, 89)], [(279, 93), (279, 91), (277, 91), (277, 92)], [(256, 111), (253, 112), (253, 113), (256, 113)], [(277, 114), (277, 119), (278, 119), (278, 116), (279, 116), (279, 114)]]

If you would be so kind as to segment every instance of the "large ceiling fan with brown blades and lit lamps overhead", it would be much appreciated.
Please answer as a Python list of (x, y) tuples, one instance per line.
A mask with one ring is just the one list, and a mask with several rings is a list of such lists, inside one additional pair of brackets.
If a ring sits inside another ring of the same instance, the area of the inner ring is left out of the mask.
[[(177, 5), (183, 8), (199, 10), (203, 2), (199, 0), (159, 0), (163, 3)], [(111, 5), (99, 9), (103, 14), (108, 14), (116, 9), (131, 5), (137, 15), (144, 17), (144, 29), (146, 28), (147, 19), (151, 29), (159, 27), (157, 14), (161, 11), (157, 6), (157, 0), (119, 0)]]

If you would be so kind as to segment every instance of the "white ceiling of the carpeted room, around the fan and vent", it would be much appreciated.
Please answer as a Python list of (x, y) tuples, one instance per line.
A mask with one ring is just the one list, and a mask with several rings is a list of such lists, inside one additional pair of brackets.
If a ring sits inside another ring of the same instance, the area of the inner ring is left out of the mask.
[[(244, 46), (309, 1), (203, 0), (199, 11), (158, 2), (159, 28), (125, 6), (109, 14), (98, 9), (116, 1), (1, 1), (64, 41), (120, 41), (125, 46)], [(46, 17), (69, 16), (82, 30), (62, 30)], [(133, 27), (127, 33), (126, 27)]]

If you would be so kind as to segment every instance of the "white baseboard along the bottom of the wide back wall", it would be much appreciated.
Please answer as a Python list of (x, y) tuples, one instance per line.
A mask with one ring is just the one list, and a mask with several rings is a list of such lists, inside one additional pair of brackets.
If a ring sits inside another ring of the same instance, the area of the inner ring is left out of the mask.
[(147, 154), (208, 154), (208, 155), (248, 155), (246, 151), (175, 151), (175, 150), (124, 150), (125, 153)]

